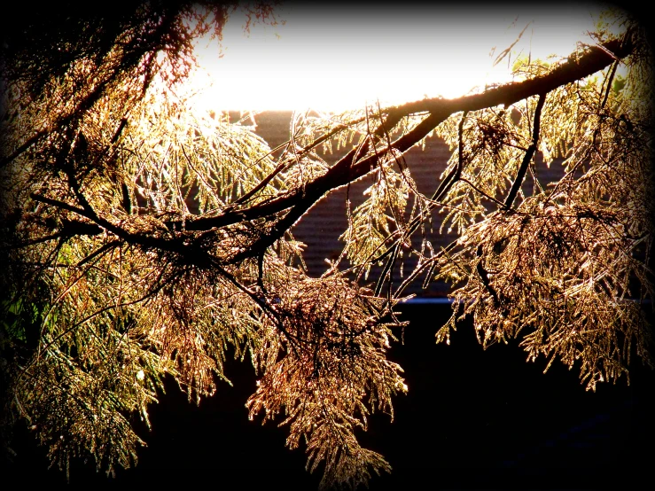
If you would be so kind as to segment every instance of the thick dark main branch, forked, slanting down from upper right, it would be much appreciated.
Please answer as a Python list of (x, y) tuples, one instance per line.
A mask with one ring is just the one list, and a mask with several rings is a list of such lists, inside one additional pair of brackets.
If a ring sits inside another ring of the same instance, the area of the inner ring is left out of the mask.
[[(580, 57), (574, 57), (572, 55), (564, 64), (541, 77), (524, 82), (508, 83), (472, 96), (458, 97), (456, 99), (425, 99), (387, 108), (382, 111), (382, 113), (386, 113), (386, 120), (378, 127), (375, 134), (379, 134), (378, 136), (380, 136), (388, 132), (405, 116), (413, 113), (427, 112), (428, 115), (416, 128), (399, 137), (387, 147), (389, 151), (393, 149), (395, 152), (407, 152), (453, 113), (477, 111), (495, 105), (511, 105), (526, 97), (547, 94), (550, 90), (555, 90), (562, 85), (578, 81), (602, 70), (604, 67), (612, 64), (617, 58), (625, 58), (634, 48), (635, 45), (631, 38), (629, 35), (626, 35), (623, 39), (604, 43), (602, 48), (590, 48), (589, 51), (581, 54)], [(611, 53), (613, 53), (613, 56)], [(247, 257), (256, 257), (267, 247), (272, 246), (277, 239), (281, 238), (285, 231), (289, 230), (295, 222), (300, 220), (300, 217), (317, 201), (322, 199), (330, 191), (336, 190), (367, 175), (371, 170), (377, 168), (379, 160), (387, 155), (386, 152), (375, 152), (362, 159), (358, 159), (359, 156), (365, 155), (368, 151), (369, 146), (367, 143), (363, 148), (357, 148), (348, 152), (345, 157), (339, 160), (324, 175), (319, 176), (314, 181), (307, 183), (299, 189), (286, 192), (277, 198), (253, 205), (252, 207), (244, 209), (232, 208), (214, 217), (200, 217), (195, 220), (187, 219), (184, 228), (189, 231), (211, 230), (238, 222), (268, 217), (288, 210), (285, 216), (277, 222), (276, 226), (268, 234), (255, 241), (248, 250), (233, 256), (230, 262), (242, 261)], [(45, 201), (43, 197), (40, 200)], [(50, 204), (61, 207), (61, 203), (55, 204), (50, 201)], [(96, 222), (100, 227), (111, 231), (128, 243), (183, 253), (181, 250), (184, 249), (183, 246), (175, 239), (149, 238), (143, 237), (140, 234), (131, 234), (96, 216), (95, 212), (85, 207), (84, 204), (82, 200), (83, 209), (71, 206), (64, 208), (90, 218), (91, 221)], [(181, 228), (181, 222), (179, 221), (171, 221), (167, 225), (169, 230), (180, 230)]]

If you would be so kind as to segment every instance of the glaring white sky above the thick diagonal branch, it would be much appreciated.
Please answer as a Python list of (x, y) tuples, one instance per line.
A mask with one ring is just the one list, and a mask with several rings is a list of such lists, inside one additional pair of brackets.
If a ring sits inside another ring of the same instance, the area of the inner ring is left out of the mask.
[[(207, 109), (339, 111), (401, 104), (427, 97), (459, 97), (475, 86), (509, 80), (495, 55), (526, 32), (515, 51), (533, 58), (568, 55), (578, 41), (592, 43), (600, 4), (507, 6), (389, 6), (292, 4), (278, 12), (285, 24), (244, 32), (234, 15), (217, 43), (197, 53), (211, 81), (198, 104)], [(593, 14), (593, 16), (592, 16)], [(516, 54), (516, 53), (515, 53)], [(512, 56), (513, 62), (515, 55)]]

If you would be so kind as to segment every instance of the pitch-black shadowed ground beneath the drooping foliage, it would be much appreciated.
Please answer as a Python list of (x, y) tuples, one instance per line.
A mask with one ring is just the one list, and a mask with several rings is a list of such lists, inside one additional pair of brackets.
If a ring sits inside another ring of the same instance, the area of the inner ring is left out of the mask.
[[(650, 395), (655, 372), (632, 367), (631, 384), (599, 385), (586, 392), (575, 369), (543, 359), (526, 362), (516, 346), (480, 347), (470, 323), (450, 346), (434, 332), (448, 305), (408, 305), (404, 345), (390, 357), (405, 369), (407, 396), (395, 398), (394, 422), (376, 412), (364, 446), (384, 456), (394, 471), (374, 477), (370, 490), (429, 488), (595, 489), (648, 482), (655, 435)], [(516, 344), (516, 343), (512, 343)], [(229, 362), (234, 386), (219, 386), (199, 406), (175, 383), (152, 407), (152, 431), (136, 468), (115, 478), (75, 462), (71, 486), (200, 485), (238, 489), (316, 489), (320, 472), (304, 470), (304, 449), (285, 448), (286, 429), (248, 421), (244, 406), (255, 388), (249, 362)], [(17, 455), (4, 483), (65, 484), (65, 472), (47, 470), (45, 450), (19, 428)], [(647, 473), (648, 472), (648, 473)]]

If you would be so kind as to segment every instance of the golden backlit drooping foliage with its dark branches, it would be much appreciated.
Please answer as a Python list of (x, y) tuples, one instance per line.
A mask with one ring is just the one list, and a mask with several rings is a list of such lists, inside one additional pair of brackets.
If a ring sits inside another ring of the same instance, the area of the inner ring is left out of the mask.
[[(147, 421), (165, 375), (199, 401), (230, 353), (260, 378), (251, 417), (306, 440), (325, 486), (365, 483), (390, 469), (355, 433), (407, 391), (386, 351), (411, 282), (453, 284), (437, 340), (472, 316), (484, 346), (520, 339), (592, 389), (631, 355), (651, 363), (651, 52), (634, 21), (469, 96), (299, 114), (272, 152), (180, 90), (193, 39), (233, 6), (132, 9), (57, 6), (3, 47), (5, 428), (27, 421), (58, 465), (134, 464), (130, 417)], [(402, 155), (431, 134), (452, 156), (428, 196)], [(363, 175), (339, 261), (308, 277), (293, 225)], [(458, 238), (437, 246), (433, 226)]]

